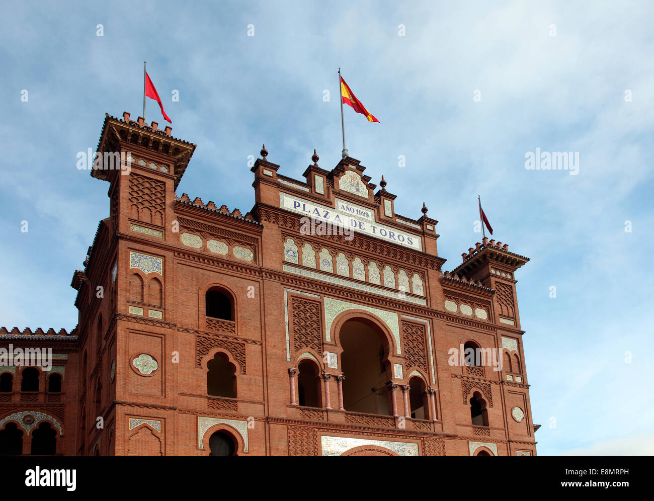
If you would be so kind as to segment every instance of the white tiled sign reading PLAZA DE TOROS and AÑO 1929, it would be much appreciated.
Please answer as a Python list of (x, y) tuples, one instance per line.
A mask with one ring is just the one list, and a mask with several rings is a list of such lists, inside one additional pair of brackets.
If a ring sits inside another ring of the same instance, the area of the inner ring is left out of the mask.
[(379, 224), (375, 220), (374, 211), (354, 203), (336, 199), (336, 208), (332, 209), (332, 207), (325, 207), (296, 196), (280, 193), (279, 207), (296, 214), (310, 216), (318, 221), (352, 228), (355, 232), (365, 233), (390, 243), (422, 250), (421, 237)]

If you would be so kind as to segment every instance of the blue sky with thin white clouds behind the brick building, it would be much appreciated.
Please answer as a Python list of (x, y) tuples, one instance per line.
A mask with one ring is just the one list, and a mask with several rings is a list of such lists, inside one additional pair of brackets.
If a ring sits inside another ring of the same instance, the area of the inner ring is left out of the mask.
[[(487, 4), (5, 6), (0, 324), (77, 324), (69, 283), (109, 185), (76, 155), (97, 146), (105, 112), (141, 114), (143, 61), (173, 135), (198, 145), (178, 195), (243, 213), (262, 143), (291, 177), (313, 148), (337, 164), (341, 67), (381, 121), (345, 110), (351, 156), (384, 175), (399, 214), (426, 202), (445, 269), (479, 241), (477, 194), (494, 237), (531, 258), (516, 276), (540, 455), (651, 455), (654, 5)], [(163, 128), (155, 101), (146, 114)], [(579, 152), (578, 175), (525, 169), (536, 148)]]

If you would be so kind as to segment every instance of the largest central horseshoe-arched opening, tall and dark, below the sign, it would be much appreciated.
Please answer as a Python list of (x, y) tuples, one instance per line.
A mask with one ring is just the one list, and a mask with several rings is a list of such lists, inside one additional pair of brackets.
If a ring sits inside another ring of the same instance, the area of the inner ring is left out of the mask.
[(386, 336), (368, 319), (351, 319), (343, 324), (338, 337), (345, 375), (343, 406), (347, 411), (390, 415)]

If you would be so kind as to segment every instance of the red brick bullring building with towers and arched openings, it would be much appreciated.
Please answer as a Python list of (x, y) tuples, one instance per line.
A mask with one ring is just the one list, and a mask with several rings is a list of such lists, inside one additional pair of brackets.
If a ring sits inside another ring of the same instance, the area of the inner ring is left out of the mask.
[(0, 331), (52, 349), (49, 371), (0, 366), (3, 454), (536, 455), (527, 258), (484, 239), (442, 271), (426, 207), (396, 214), (349, 157), (298, 181), (264, 147), (245, 215), (177, 197), (194, 149), (106, 116), (122, 170), (91, 172), (109, 217), (73, 275), (78, 326)]

